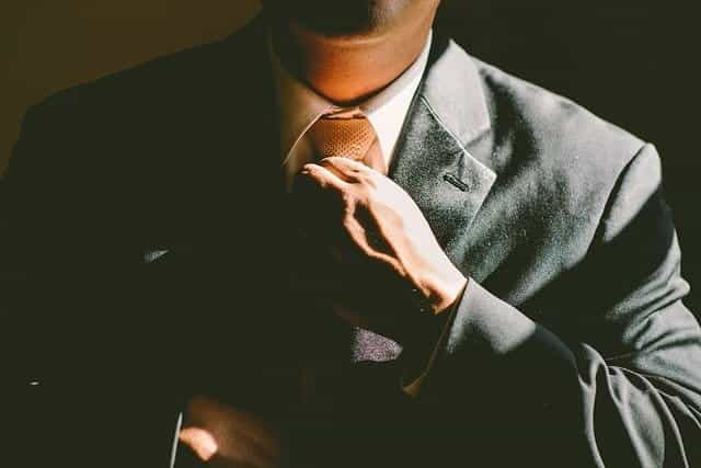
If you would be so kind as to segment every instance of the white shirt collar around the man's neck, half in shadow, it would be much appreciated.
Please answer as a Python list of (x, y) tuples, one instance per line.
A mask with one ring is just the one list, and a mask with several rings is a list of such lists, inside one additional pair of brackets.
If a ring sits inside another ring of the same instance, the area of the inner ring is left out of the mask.
[[(429, 32), (426, 44), (416, 60), (399, 78), (379, 93), (357, 105), (372, 124), (380, 141), (382, 155), (388, 163), (394, 151), (412, 98), (426, 69), (432, 38), (433, 31)], [(283, 163), (285, 163), (298, 141), (321, 115), (342, 107), (314, 92), (285, 69), (273, 48), (269, 34), (268, 50), (280, 124), (280, 155)]]

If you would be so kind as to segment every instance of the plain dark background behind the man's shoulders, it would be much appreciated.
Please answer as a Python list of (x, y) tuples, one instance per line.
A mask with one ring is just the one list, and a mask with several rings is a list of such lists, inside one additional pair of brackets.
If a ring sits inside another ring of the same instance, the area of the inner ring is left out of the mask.
[[(289, 0), (294, 1), (294, 0)], [(342, 0), (334, 0), (342, 1)], [(439, 24), (476, 57), (657, 145), (691, 285), (701, 282), (694, 2), (444, 0)], [(0, 168), (26, 107), (81, 81), (218, 37), (255, 0), (9, 0), (0, 12)], [(692, 309), (701, 308), (701, 296)]]

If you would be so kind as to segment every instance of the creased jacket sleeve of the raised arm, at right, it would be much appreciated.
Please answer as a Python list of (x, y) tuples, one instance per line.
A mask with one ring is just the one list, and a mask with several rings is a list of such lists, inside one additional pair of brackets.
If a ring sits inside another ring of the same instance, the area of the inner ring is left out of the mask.
[(525, 422), (521, 445), (538, 452), (547, 437), (561, 466), (701, 464), (701, 331), (681, 303), (689, 288), (660, 172), (645, 146), (621, 173), (589, 249), (589, 281), (558, 303), (559, 326), (470, 281), (423, 397), (483, 433), (505, 437), (495, 421)]

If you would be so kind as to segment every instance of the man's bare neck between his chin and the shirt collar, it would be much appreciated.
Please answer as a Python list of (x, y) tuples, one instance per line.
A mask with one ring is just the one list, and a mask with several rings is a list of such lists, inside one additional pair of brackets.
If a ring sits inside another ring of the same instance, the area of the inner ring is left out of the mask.
[(273, 42), (285, 68), (300, 81), (338, 105), (349, 105), (381, 91), (416, 60), (433, 20), (420, 18), (366, 37), (330, 37), (278, 24)]

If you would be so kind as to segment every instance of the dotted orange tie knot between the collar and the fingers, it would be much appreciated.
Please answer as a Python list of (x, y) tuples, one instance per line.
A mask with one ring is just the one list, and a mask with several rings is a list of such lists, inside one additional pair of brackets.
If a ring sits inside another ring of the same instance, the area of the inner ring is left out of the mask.
[(372, 124), (358, 110), (323, 115), (311, 126), (308, 135), (320, 159), (340, 156), (387, 173)]

